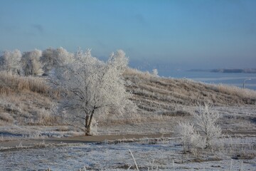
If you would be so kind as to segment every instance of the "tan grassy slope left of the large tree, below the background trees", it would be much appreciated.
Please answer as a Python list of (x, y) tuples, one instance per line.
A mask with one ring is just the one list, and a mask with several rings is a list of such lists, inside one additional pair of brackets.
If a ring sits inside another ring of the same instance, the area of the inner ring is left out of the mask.
[(43, 78), (0, 73), (0, 125), (51, 125), (53, 91)]

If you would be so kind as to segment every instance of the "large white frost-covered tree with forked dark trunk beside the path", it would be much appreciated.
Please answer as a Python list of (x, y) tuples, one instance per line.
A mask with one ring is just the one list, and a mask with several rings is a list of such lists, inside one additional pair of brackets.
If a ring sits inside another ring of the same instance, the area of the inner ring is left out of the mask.
[(122, 50), (112, 53), (106, 63), (92, 57), (90, 50), (74, 57), (73, 63), (55, 70), (53, 81), (67, 92), (59, 109), (68, 113), (72, 119), (68, 122), (90, 135), (94, 118), (124, 115), (134, 108), (122, 78), (128, 60)]

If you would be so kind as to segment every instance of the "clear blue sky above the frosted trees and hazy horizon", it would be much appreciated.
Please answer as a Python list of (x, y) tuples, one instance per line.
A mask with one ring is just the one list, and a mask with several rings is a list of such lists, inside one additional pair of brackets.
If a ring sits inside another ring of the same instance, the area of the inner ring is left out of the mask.
[(137, 68), (256, 68), (255, 0), (0, 0), (0, 51), (122, 49)]

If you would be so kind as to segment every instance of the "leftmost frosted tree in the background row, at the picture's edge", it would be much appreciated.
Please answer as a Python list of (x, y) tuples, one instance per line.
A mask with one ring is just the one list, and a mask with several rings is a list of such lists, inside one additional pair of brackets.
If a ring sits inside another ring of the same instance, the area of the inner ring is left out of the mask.
[(0, 57), (0, 71), (8, 73), (21, 73), (21, 51), (4, 51), (3, 56)]

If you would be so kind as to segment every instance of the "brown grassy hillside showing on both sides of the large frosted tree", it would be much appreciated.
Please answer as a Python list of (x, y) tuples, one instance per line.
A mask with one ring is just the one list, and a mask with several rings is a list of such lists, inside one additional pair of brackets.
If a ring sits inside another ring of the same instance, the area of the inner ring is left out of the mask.
[[(255, 128), (255, 114), (249, 115), (256, 104), (256, 92), (253, 90), (213, 86), (186, 79), (159, 78), (134, 69), (127, 69), (124, 78), (127, 90), (134, 94), (132, 100), (139, 107), (139, 115), (146, 118), (146, 122), (160, 121), (163, 116), (168, 120), (173, 120), (173, 116), (189, 118), (197, 104), (210, 103), (218, 107), (226, 118), (234, 118), (234, 115), (242, 113), (235, 118), (244, 117)], [(57, 101), (54, 94), (45, 78), (0, 73), (0, 125), (56, 125), (57, 120), (50, 113), (50, 108)], [(245, 106), (250, 109), (244, 109)], [(231, 110), (233, 108), (235, 112)], [(230, 110), (228, 113), (227, 109)], [(231, 121), (223, 120), (223, 124)]]

